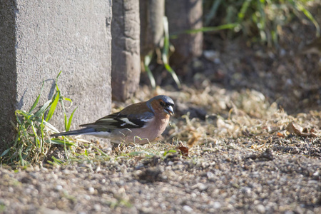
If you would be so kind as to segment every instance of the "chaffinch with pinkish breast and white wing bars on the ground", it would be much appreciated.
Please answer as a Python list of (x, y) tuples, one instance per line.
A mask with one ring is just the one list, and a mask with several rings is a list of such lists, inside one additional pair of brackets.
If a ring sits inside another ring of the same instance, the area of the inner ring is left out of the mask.
[(110, 138), (113, 143), (148, 143), (161, 135), (173, 115), (173, 100), (165, 95), (151, 98), (149, 101), (135, 103), (122, 111), (100, 118), (95, 123), (83, 124), (86, 128), (51, 137), (89, 135)]

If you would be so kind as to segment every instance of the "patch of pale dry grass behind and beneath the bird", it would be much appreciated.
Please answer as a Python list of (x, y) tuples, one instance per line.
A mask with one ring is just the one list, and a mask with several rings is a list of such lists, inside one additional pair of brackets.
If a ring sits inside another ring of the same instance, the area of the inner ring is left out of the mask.
[[(276, 103), (269, 103), (262, 93), (254, 90), (227, 91), (218, 86), (206, 86), (195, 89), (183, 86), (183, 91), (165, 91), (156, 88), (151, 95), (148, 87), (141, 88), (130, 103), (146, 100), (156, 94), (166, 94), (173, 98), (177, 106), (175, 116), (170, 121), (160, 141), (146, 145), (118, 146), (109, 153), (111, 157), (148, 158), (175, 153), (183, 157), (178, 149), (179, 143), (188, 146), (189, 158), (201, 158), (206, 151), (221, 149), (265, 150), (275, 146), (279, 141), (287, 141), (293, 136), (300, 143), (306, 141), (320, 142), (321, 113), (299, 113), (288, 115)], [(113, 104), (113, 111), (119, 111), (123, 105)], [(184, 109), (183, 107), (187, 109)], [(190, 108), (193, 106), (193, 108)], [(192, 117), (190, 111), (203, 109), (205, 120)], [(183, 111), (182, 111), (183, 109)], [(182, 112), (187, 112), (181, 115)], [(295, 123), (310, 130), (315, 129), (317, 138), (301, 138), (287, 131), (289, 123)], [(291, 139), (291, 141), (294, 141)]]

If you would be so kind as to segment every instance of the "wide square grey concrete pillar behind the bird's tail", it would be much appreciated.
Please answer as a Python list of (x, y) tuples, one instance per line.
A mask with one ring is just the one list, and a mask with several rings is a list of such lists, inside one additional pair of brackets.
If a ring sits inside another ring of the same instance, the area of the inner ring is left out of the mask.
[[(111, 0), (0, 0), (0, 151), (12, 139), (14, 111), (54, 93), (78, 109), (72, 128), (111, 110)], [(66, 103), (68, 106), (68, 103)], [(63, 116), (52, 123), (63, 131)]]

